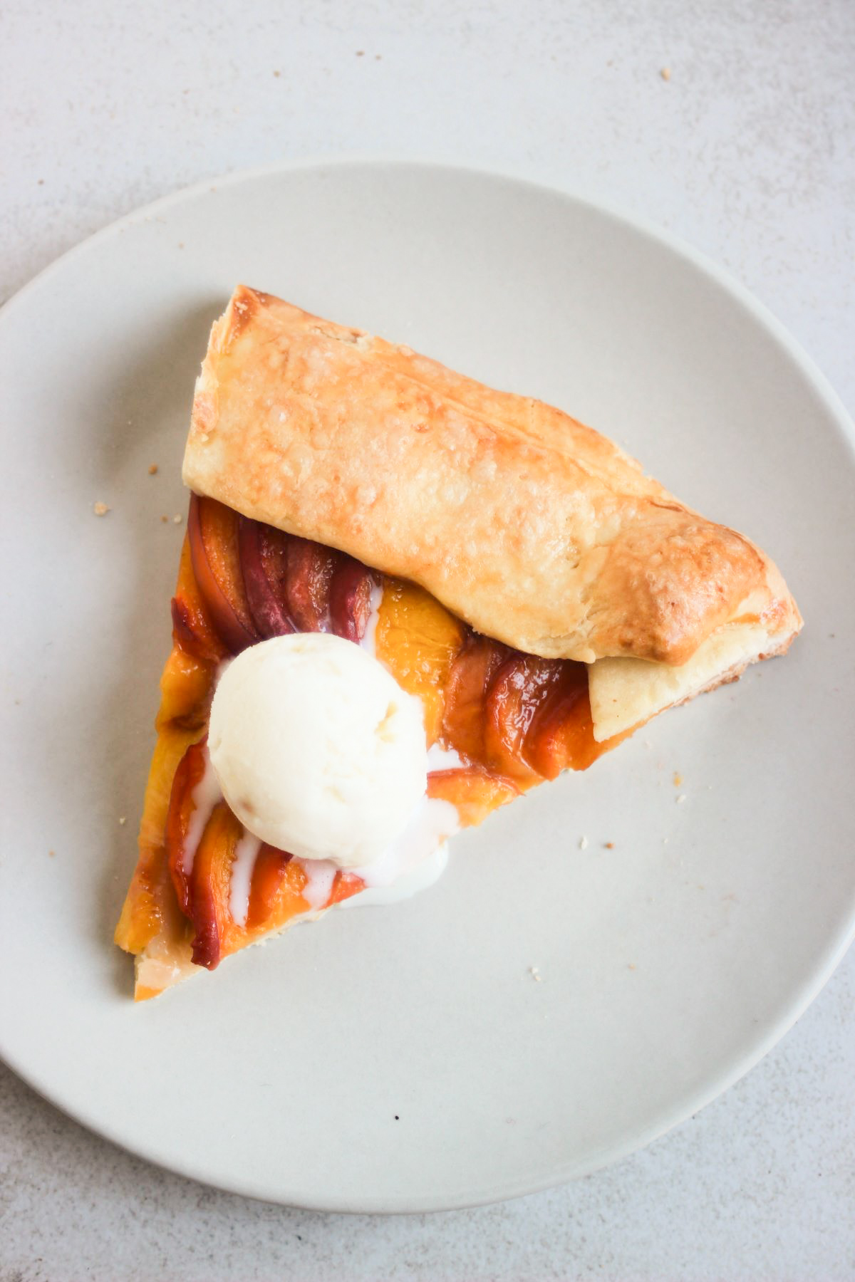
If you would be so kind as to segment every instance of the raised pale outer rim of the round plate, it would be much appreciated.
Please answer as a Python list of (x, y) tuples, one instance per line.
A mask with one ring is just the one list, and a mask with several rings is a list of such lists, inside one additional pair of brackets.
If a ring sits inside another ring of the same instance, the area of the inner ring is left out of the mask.
[[(704, 277), (727, 294), (735, 304), (747, 312), (767, 331), (767, 333), (772, 336), (777, 345), (784, 350), (786, 355), (796, 365), (818, 399), (824, 404), (829, 418), (834, 420), (841, 436), (852, 451), (855, 463), (855, 423), (852, 422), (842, 399), (831, 386), (815, 360), (790, 333), (786, 326), (778, 320), (774, 313), (745, 285), (742, 285), (736, 276), (733, 276), (727, 268), (720, 267), (702, 250), (699, 250), (690, 242), (685, 241), (681, 236), (656, 226), (652, 221), (645, 217), (627, 212), (617, 203), (602, 200), (588, 191), (576, 190), (570, 186), (560, 185), (556, 181), (546, 181), (545, 178), (532, 177), (531, 173), (524, 173), (520, 169), (514, 169), (513, 167), (495, 168), (492, 165), (470, 164), (454, 159), (449, 160), (424, 155), (404, 155), (381, 151), (345, 151), (329, 155), (314, 154), (310, 156), (300, 156), (287, 160), (274, 160), (261, 165), (235, 169), (220, 177), (203, 178), (178, 187), (145, 205), (132, 209), (129, 213), (123, 214), (120, 218), (114, 219), (106, 226), (99, 228), (96, 232), (92, 232), (90, 236), (86, 236), (76, 245), (72, 245), (58, 258), (47, 263), (40, 272), (31, 277), (19, 290), (6, 299), (3, 305), (0, 305), (0, 326), (9, 322), (10, 317), (14, 315), (17, 306), (23, 305), (28, 300), (31, 292), (33, 292), (40, 285), (44, 285), (45, 281), (49, 281), (54, 273), (60, 272), (76, 256), (82, 256), (83, 254), (97, 249), (101, 241), (106, 241), (108, 238), (119, 235), (126, 228), (132, 227), (138, 222), (144, 222), (153, 215), (158, 215), (174, 205), (181, 205), (182, 203), (194, 200), (197, 196), (204, 196), (205, 194), (212, 192), (212, 188), (217, 190), (226, 186), (240, 186), (241, 183), (256, 179), (276, 178), (290, 173), (306, 173), (329, 168), (435, 169), (460, 177), (508, 182), (515, 186), (528, 187), (532, 191), (542, 192), (551, 197), (558, 196), (569, 205), (583, 206), (597, 215), (605, 215), (619, 224), (628, 226), (635, 232), (654, 241), (659, 247), (676, 254), (678, 258), (688, 260)], [(103, 1120), (92, 1118), (86, 1110), (78, 1111), (64, 1104), (62, 1099), (54, 1095), (51, 1086), (45, 1083), (42, 1076), (37, 1070), (33, 1070), (32, 1067), (18, 1061), (14, 1051), (5, 1045), (6, 1038), (3, 1029), (0, 1029), (0, 1059), (27, 1086), (41, 1096), (41, 1099), (46, 1100), (51, 1106), (59, 1109), (59, 1111), (65, 1117), (69, 1117), (76, 1123), (86, 1127), (86, 1129), (101, 1138), (108, 1140), (110, 1144), (117, 1145), (126, 1153), (131, 1153), (135, 1156), (159, 1167), (160, 1169), (169, 1170), (188, 1179), (195, 1179), (208, 1187), (219, 1188), (224, 1192), (251, 1197), (259, 1201), (324, 1213), (419, 1214), (438, 1210), (463, 1210), (467, 1208), (492, 1205), (497, 1201), (505, 1201), (526, 1196), (528, 1194), (542, 1192), (546, 1188), (556, 1187), (586, 1174), (594, 1174), (605, 1167), (622, 1161), (624, 1158), (646, 1147), (655, 1140), (667, 1135), (669, 1131), (681, 1126), (690, 1117), (699, 1113), (702, 1108), (713, 1103), (713, 1100), (718, 1099), (731, 1086), (745, 1077), (790, 1032), (790, 1029), (805, 1013), (808, 1006), (824, 988), (854, 940), (855, 908), (850, 912), (847, 922), (845, 922), (838, 929), (837, 936), (828, 941), (831, 946), (826, 949), (822, 964), (818, 965), (810, 974), (805, 976), (801, 985), (793, 991), (792, 1000), (790, 1001), (786, 1013), (769, 1027), (765, 1036), (761, 1037), (749, 1053), (736, 1056), (732, 1065), (714, 1077), (705, 1090), (685, 1092), (669, 1110), (663, 1111), (660, 1118), (654, 1124), (647, 1126), (640, 1132), (635, 1132), (632, 1138), (627, 1138), (626, 1142), (609, 1147), (608, 1153), (599, 1155), (595, 1160), (588, 1159), (583, 1163), (565, 1161), (563, 1167), (554, 1168), (552, 1173), (549, 1176), (538, 1178), (532, 1178), (531, 1176), (519, 1177), (515, 1182), (510, 1181), (501, 1190), (495, 1190), (494, 1192), (482, 1194), (479, 1196), (464, 1195), (458, 1197), (437, 1197), (426, 1195), (415, 1199), (410, 1196), (404, 1199), (405, 1204), (390, 1204), (390, 1201), (383, 1197), (368, 1197), (359, 1201), (342, 1201), (340, 1197), (333, 1197), (331, 1200), (322, 1197), (305, 1199), (301, 1197), (299, 1192), (290, 1194), (287, 1191), (282, 1191), (276, 1197), (272, 1197), (269, 1187), (263, 1186), (260, 1182), (254, 1183), (253, 1181), (244, 1181), (240, 1178), (229, 1182), (220, 1178), (212, 1178), (212, 1174), (205, 1172), (204, 1163), (196, 1164), (192, 1160), (176, 1161), (172, 1156), (160, 1154), (156, 1145), (129, 1144), (118, 1133), (118, 1128), (114, 1124), (105, 1124)]]

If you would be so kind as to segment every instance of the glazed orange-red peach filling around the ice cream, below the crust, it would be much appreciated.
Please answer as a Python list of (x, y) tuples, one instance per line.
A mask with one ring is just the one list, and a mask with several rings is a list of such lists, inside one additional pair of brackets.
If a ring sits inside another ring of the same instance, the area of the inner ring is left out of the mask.
[[(441, 851), (459, 828), (564, 769), (586, 769), (622, 737), (594, 737), (586, 664), (481, 636), (414, 583), (213, 499), (191, 497), (172, 622), (138, 863), (115, 932), (136, 959), (137, 1000), (373, 891), (370, 872), (259, 840), (224, 800), (206, 744), (210, 705), (226, 665), (247, 647), (332, 633), (367, 649), (420, 700), (427, 818), (399, 846), (423, 846), (429, 835)], [(409, 872), (406, 849), (401, 868)]]

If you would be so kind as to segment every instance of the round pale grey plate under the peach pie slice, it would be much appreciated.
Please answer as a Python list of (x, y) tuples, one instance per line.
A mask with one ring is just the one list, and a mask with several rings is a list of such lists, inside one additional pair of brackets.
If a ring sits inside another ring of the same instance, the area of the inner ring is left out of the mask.
[[(192, 383), (240, 279), (594, 423), (767, 547), (808, 626), (784, 660), (455, 838), (433, 890), (135, 1006), (110, 936)], [(38, 277), (0, 315), (0, 1042), (50, 1100), (223, 1188), (451, 1208), (647, 1142), (804, 1010), (855, 910), (855, 469), (828, 387), (715, 268), (508, 178), (268, 171), (160, 201)]]

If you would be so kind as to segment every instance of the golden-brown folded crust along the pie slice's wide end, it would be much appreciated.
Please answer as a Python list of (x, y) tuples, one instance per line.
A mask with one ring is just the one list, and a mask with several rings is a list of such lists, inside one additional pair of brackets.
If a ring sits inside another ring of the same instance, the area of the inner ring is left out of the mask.
[(801, 622), (764, 553), (599, 432), (246, 286), (212, 329), (183, 478), (529, 654), (679, 665), (746, 601), (781, 641)]

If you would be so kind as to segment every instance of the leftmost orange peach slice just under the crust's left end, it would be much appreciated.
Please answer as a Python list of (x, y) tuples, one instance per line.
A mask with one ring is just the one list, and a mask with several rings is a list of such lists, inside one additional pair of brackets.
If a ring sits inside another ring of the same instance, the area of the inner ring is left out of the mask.
[(212, 623), (231, 654), (258, 641), (237, 542), (236, 512), (215, 499), (190, 496), (187, 537), (194, 576)]

